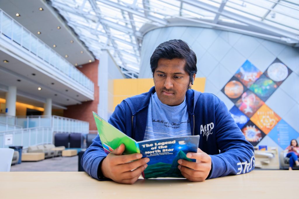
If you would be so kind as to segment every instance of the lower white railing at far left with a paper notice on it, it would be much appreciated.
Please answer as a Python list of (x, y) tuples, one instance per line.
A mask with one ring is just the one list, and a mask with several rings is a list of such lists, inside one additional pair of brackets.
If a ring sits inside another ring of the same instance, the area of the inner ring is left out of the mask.
[(51, 127), (34, 127), (0, 132), (0, 148), (9, 146), (28, 146), (53, 143)]

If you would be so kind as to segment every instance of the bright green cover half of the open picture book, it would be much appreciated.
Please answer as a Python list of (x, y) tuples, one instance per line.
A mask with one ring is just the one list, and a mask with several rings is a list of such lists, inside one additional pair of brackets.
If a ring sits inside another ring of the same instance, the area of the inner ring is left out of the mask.
[(132, 154), (140, 153), (139, 146), (137, 142), (109, 124), (95, 112), (92, 112), (94, 115), (94, 120), (97, 125), (97, 130), (103, 145), (103, 148), (106, 153), (113, 151), (120, 144), (125, 145), (125, 151), (123, 154)]

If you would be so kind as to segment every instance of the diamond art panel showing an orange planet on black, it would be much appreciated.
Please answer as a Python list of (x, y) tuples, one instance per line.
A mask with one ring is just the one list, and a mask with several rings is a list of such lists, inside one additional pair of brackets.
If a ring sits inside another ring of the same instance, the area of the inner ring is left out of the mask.
[(235, 77), (232, 77), (222, 88), (222, 92), (235, 103), (247, 88)]

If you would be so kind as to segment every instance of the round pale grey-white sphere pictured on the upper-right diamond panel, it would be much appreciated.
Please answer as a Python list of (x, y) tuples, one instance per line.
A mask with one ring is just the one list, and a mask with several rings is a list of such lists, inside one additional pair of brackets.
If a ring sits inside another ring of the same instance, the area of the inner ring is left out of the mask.
[(288, 77), (288, 68), (283, 63), (273, 63), (267, 70), (269, 78), (273, 81), (283, 81)]

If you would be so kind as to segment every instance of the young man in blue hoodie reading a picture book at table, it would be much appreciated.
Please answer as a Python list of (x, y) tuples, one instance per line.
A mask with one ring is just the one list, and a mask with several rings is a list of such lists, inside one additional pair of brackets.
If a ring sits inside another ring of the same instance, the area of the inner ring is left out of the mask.
[[(198, 151), (187, 153), (187, 158), (196, 161), (178, 160), (181, 174), (190, 181), (250, 172), (254, 169), (253, 146), (225, 104), (213, 94), (190, 89), (196, 61), (195, 53), (182, 40), (160, 44), (150, 58), (155, 86), (123, 100), (108, 122), (136, 141), (200, 135)], [(97, 135), (83, 155), (83, 168), (99, 180), (133, 184), (150, 159), (138, 153), (122, 155), (124, 149), (121, 144), (107, 155)]]

